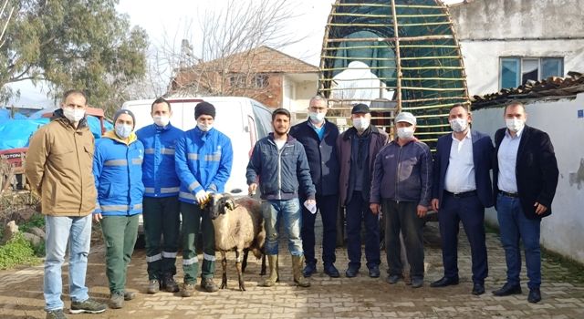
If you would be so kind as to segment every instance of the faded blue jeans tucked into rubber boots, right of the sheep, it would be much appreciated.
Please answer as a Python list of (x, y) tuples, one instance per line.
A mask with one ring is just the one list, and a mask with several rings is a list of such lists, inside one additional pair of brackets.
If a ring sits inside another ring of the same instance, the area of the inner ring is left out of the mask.
[(298, 199), (262, 201), (262, 213), (266, 221), (266, 253), (277, 254), (277, 230), (281, 220), (288, 235), (288, 250), (293, 256), (302, 256), (302, 211)]

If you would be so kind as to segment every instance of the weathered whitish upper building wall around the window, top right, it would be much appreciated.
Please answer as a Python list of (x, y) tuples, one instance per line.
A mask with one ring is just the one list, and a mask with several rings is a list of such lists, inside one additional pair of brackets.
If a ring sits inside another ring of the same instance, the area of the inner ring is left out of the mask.
[(450, 8), (469, 94), (499, 88), (499, 57), (564, 57), (584, 73), (584, 0), (474, 0)]

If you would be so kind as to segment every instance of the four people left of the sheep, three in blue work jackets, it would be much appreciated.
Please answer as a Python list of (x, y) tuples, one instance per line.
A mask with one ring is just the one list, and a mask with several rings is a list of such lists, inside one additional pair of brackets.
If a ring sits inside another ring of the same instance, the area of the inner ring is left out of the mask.
[[(214, 228), (203, 214), (203, 205), (211, 192), (224, 191), (233, 150), (231, 140), (213, 128), (214, 106), (199, 103), (194, 111), (197, 126), (183, 132), (170, 123), (171, 104), (157, 98), (151, 105), (151, 125), (134, 132), (134, 114), (121, 109), (113, 117), (114, 129), (97, 141), (89, 131), (87, 108), (83, 91), (66, 92), (51, 122), (30, 140), (26, 157), (26, 177), (40, 194), (46, 215), (43, 291), (47, 318), (65, 318), (61, 266), (67, 248), (70, 313), (99, 314), (107, 308), (89, 298), (85, 285), (92, 219), (99, 222), (106, 246), (110, 308), (119, 309), (135, 297), (126, 290), (126, 273), (141, 213), (147, 292), (193, 294), (199, 231), (203, 235), (201, 288), (217, 291)], [(174, 275), (181, 232), (184, 282), (179, 288)]]

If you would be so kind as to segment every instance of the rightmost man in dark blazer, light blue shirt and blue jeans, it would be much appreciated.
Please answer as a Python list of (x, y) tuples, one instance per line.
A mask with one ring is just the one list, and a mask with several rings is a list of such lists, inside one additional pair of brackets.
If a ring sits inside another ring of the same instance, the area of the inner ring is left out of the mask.
[(551, 202), (558, 186), (558, 161), (546, 132), (525, 125), (526, 108), (513, 102), (505, 108), (506, 128), (495, 132), (493, 190), (505, 249), (507, 281), (496, 296), (521, 293), (521, 252), (526, 253), (529, 303), (541, 300), (541, 252), (539, 226), (551, 214)]

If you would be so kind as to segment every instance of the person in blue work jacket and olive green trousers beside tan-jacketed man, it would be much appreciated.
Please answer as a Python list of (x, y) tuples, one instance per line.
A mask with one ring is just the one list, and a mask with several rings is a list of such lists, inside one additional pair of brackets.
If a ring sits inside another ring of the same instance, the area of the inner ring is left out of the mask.
[(120, 109), (113, 122), (114, 130), (95, 143), (93, 175), (98, 199), (93, 218), (100, 221), (106, 243), (110, 308), (119, 309), (134, 298), (125, 288), (142, 212), (144, 146), (133, 132), (136, 120), (130, 110)]

